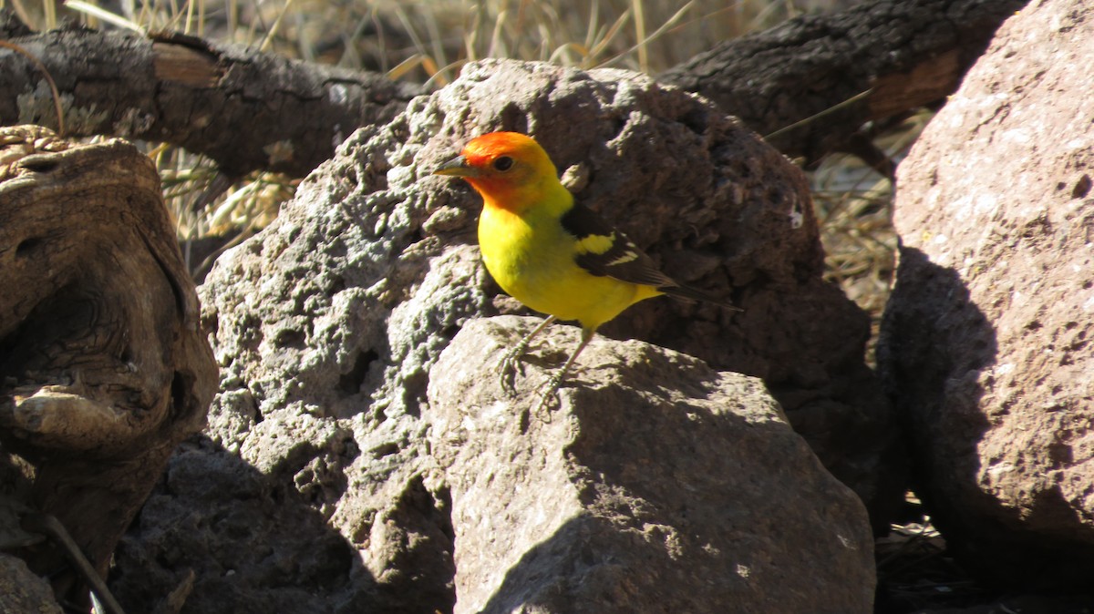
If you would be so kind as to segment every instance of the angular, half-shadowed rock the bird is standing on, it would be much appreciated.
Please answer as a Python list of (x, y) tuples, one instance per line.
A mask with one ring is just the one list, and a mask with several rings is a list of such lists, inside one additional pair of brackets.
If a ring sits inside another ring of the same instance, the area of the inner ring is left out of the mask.
[(430, 379), (457, 614), (872, 611), (865, 509), (761, 381), (597, 339), (558, 411), (529, 415), (552, 361), (534, 352), (512, 398), (482, 377), (536, 324), (512, 319), (468, 322)]

